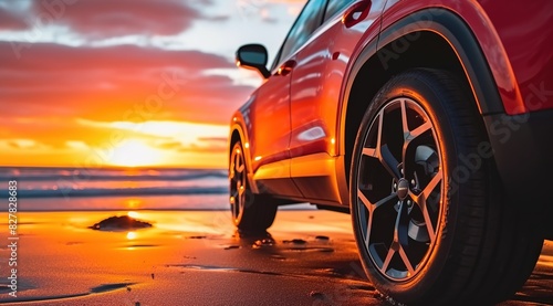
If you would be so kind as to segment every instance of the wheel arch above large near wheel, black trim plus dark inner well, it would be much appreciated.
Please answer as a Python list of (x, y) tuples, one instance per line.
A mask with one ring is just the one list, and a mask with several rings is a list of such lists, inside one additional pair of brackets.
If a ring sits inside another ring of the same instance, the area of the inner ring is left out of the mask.
[[(427, 20), (428, 15), (432, 19)], [(482, 115), (504, 112), (486, 56), (460, 17), (432, 8), (404, 18), (382, 31), (377, 41), (368, 43), (346, 73), (340, 151), (344, 155), (347, 184), (357, 127), (371, 101), (393, 75), (414, 67), (451, 72), (471, 91)]]

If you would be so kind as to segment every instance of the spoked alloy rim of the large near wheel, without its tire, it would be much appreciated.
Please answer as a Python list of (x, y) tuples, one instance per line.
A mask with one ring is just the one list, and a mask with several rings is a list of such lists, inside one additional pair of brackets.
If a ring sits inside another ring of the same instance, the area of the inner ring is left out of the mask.
[(384, 104), (364, 137), (357, 169), (357, 226), (377, 271), (408, 281), (436, 244), (444, 169), (436, 129), (414, 99)]

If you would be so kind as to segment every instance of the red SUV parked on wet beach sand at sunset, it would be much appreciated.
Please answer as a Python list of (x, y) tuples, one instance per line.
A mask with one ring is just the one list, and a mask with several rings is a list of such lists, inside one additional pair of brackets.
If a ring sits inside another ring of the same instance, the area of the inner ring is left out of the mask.
[(352, 214), (388, 298), (490, 304), (553, 236), (553, 1), (310, 0), (233, 115), (240, 230), (276, 207)]

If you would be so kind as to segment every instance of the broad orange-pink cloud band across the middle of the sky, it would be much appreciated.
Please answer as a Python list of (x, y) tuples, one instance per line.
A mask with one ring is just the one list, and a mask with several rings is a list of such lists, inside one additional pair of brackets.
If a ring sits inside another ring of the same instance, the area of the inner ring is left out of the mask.
[(17, 60), (12, 44), (0, 42), (0, 113), (12, 117), (227, 124), (252, 91), (206, 75), (236, 67), (199, 51), (36, 43)]

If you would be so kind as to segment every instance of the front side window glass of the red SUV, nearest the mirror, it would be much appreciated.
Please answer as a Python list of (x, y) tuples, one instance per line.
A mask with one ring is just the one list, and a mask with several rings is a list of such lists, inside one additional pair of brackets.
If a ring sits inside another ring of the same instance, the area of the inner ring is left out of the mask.
[[(302, 46), (321, 25), (326, 0), (310, 0), (290, 30), (279, 59), (285, 59)], [(279, 61), (279, 60), (278, 60)]]

